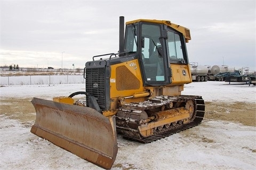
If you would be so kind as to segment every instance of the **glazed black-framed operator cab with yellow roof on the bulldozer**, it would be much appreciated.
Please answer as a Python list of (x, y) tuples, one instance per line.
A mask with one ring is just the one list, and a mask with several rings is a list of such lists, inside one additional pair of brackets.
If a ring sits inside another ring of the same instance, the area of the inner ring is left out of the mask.
[(188, 63), (185, 38), (162, 21), (150, 21), (126, 23), (124, 48), (138, 54), (145, 86), (165, 86), (172, 83), (171, 64)]

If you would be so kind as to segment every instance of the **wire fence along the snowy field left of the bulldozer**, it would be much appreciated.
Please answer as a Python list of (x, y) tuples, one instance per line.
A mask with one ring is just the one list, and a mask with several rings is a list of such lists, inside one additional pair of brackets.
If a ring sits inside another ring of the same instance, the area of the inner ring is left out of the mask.
[(75, 84), (84, 83), (83, 75), (25, 75), (0, 77), (1, 86), (32, 84)]

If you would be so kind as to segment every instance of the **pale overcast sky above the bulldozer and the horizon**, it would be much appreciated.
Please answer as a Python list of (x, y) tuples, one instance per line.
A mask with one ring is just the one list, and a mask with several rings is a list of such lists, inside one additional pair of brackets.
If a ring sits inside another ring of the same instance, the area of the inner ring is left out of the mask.
[(0, 66), (83, 69), (95, 55), (118, 52), (119, 16), (190, 29), (189, 62), (256, 70), (255, 0), (0, 0)]

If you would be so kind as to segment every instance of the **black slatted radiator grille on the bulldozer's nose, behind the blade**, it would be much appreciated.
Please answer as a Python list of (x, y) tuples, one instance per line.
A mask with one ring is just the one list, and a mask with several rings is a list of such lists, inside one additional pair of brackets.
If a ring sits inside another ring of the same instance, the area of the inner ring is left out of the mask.
[[(105, 67), (86, 68), (86, 92), (96, 98), (102, 110), (106, 111)], [(90, 100), (86, 97), (86, 106), (90, 106)]]

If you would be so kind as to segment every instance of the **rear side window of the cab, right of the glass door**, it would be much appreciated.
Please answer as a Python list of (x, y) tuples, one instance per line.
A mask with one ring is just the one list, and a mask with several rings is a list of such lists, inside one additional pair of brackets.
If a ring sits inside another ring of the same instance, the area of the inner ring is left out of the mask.
[(168, 31), (169, 57), (171, 60), (183, 60), (183, 52), (178, 33)]

